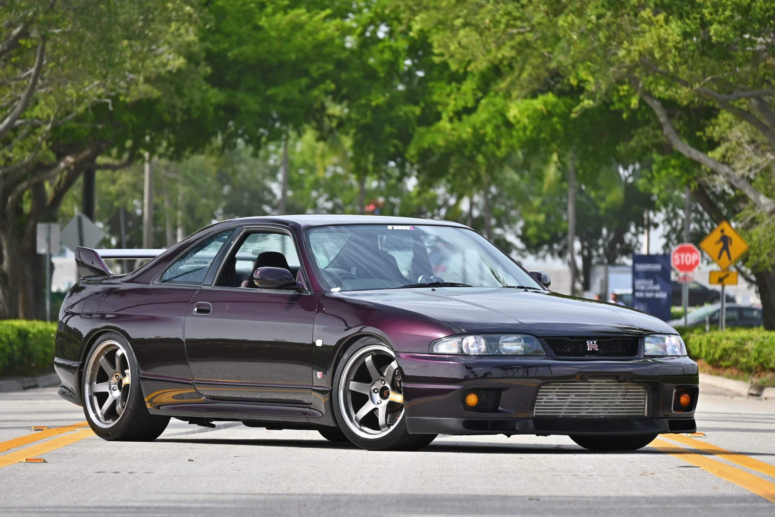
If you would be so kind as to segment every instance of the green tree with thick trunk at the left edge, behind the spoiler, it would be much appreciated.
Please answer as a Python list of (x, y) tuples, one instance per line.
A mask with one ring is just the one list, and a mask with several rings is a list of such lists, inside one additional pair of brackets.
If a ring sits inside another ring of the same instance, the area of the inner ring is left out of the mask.
[(33, 318), (46, 266), (36, 222), (114, 149), (112, 110), (158, 98), (159, 78), (185, 67), (197, 14), (185, 0), (12, 0), (0, 17), (0, 317)]

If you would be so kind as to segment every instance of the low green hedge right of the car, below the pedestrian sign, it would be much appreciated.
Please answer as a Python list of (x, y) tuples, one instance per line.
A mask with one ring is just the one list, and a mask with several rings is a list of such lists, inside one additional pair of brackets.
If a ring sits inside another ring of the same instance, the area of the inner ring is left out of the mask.
[(693, 329), (682, 333), (689, 356), (715, 367), (736, 368), (743, 373), (775, 372), (775, 332), (756, 329), (724, 331)]

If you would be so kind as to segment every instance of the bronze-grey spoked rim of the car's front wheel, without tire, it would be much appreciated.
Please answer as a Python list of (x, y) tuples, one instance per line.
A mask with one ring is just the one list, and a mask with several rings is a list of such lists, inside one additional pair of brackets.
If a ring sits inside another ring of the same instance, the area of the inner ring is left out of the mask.
[(347, 360), (339, 383), (340, 410), (353, 433), (386, 436), (404, 416), (401, 371), (393, 351), (374, 343)]

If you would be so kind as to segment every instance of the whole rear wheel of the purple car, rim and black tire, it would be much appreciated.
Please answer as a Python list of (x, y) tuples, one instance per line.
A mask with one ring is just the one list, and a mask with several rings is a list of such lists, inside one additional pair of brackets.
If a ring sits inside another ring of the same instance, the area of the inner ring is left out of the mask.
[(84, 414), (97, 436), (117, 441), (150, 441), (164, 433), (170, 417), (148, 412), (140, 389), (140, 369), (123, 336), (100, 336), (85, 364)]

